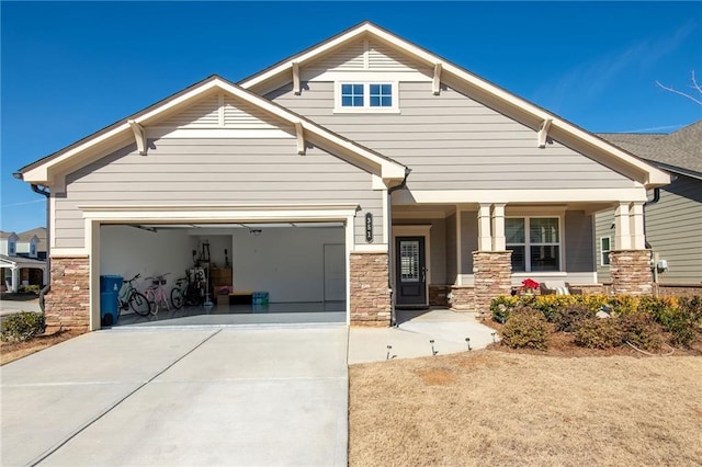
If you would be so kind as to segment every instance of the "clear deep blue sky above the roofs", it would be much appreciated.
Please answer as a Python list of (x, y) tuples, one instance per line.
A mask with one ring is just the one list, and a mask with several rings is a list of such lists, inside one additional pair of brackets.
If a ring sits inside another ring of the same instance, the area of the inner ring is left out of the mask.
[(239, 81), (364, 20), (591, 132), (668, 133), (702, 107), (700, 2), (8, 2), (0, 229), (45, 225), (12, 172), (218, 73)]

